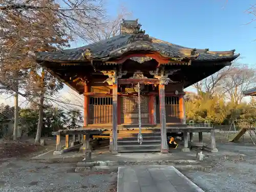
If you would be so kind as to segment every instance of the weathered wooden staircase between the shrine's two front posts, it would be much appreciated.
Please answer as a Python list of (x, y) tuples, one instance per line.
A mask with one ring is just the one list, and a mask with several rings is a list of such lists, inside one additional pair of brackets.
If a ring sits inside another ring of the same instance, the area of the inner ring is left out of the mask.
[(118, 152), (160, 152), (161, 133), (142, 133), (143, 141), (138, 143), (138, 133), (118, 134)]

